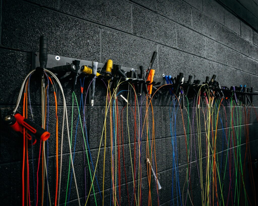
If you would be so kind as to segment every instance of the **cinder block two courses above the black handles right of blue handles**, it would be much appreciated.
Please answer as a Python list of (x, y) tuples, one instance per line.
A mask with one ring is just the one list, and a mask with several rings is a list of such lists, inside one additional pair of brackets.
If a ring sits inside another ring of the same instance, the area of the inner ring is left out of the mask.
[(205, 37), (203, 35), (180, 25), (176, 26), (176, 34), (178, 49), (197, 56), (205, 56)]

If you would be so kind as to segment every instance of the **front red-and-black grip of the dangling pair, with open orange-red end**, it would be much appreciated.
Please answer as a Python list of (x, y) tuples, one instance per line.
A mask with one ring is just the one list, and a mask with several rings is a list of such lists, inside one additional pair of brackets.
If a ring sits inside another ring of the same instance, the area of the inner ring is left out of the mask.
[(31, 122), (29, 119), (26, 119), (20, 114), (15, 114), (14, 117), (21, 126), (25, 127), (27, 130), (33, 133), (36, 136), (36, 138), (41, 139), (43, 141), (46, 141), (49, 138), (50, 133), (44, 130), (39, 125), (35, 124), (34, 122)]

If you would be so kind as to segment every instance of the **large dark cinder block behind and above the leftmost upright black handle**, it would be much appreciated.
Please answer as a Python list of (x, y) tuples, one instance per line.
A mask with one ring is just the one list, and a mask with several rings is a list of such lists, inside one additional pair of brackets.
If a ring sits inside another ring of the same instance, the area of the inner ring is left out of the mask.
[(38, 52), (39, 36), (44, 34), (49, 39), (49, 54), (100, 61), (100, 29), (78, 19), (25, 2), (6, 1), (2, 29), (5, 47)]

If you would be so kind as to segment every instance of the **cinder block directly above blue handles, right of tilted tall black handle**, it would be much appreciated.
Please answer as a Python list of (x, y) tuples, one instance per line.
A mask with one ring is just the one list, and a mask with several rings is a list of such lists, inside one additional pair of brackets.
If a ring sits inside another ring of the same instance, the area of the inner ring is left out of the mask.
[(159, 71), (165, 75), (178, 75), (180, 72), (184, 76), (193, 75), (193, 56), (187, 53), (167, 48), (164, 46), (158, 47), (159, 54)]

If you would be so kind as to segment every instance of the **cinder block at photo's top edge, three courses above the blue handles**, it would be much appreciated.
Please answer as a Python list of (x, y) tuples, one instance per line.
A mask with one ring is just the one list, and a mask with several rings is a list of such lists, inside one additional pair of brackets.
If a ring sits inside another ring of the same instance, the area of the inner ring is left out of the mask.
[(157, 12), (168, 19), (191, 28), (191, 6), (181, 0), (157, 1)]

